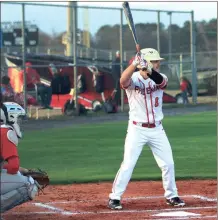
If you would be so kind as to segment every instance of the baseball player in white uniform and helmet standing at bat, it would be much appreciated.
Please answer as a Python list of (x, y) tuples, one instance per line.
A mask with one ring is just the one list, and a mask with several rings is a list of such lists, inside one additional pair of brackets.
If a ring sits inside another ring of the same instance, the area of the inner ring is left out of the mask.
[(155, 49), (142, 49), (120, 78), (120, 84), (128, 97), (129, 123), (123, 162), (114, 180), (112, 193), (109, 194), (110, 209), (122, 209), (121, 197), (144, 145), (151, 148), (162, 171), (166, 203), (172, 206), (185, 205), (178, 196), (172, 150), (161, 122), (163, 90), (168, 82), (166, 75), (158, 72), (161, 60), (163, 58)]

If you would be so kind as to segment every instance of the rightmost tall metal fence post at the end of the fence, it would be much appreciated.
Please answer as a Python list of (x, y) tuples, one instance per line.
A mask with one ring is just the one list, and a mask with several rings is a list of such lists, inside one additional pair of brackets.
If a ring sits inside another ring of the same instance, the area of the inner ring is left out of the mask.
[(191, 22), (190, 22), (190, 42), (191, 42), (191, 62), (192, 62), (192, 101), (193, 104), (197, 104), (197, 71), (196, 71), (196, 35), (195, 35), (195, 24), (194, 24), (194, 11), (191, 11)]

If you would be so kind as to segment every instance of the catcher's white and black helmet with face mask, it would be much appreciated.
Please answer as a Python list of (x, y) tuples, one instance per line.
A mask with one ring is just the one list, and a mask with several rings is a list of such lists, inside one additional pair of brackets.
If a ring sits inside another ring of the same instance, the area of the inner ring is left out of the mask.
[(25, 110), (15, 102), (4, 102), (1, 108), (1, 122), (12, 126), (18, 138), (22, 138), (20, 126), (25, 118)]

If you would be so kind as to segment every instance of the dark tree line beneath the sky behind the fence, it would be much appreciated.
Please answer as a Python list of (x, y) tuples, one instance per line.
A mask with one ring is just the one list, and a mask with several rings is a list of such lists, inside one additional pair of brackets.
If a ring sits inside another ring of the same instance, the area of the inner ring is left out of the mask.
[[(157, 49), (157, 23), (137, 23), (136, 32), (141, 45), (149, 45)], [(217, 19), (208, 22), (200, 21), (194, 24), (196, 34), (196, 52), (216, 51), (217, 48)], [(83, 31), (81, 30), (81, 33)], [(39, 46), (51, 47), (62, 44), (64, 33), (47, 34), (40, 31)], [(171, 25), (172, 53), (186, 53), (190, 51), (190, 22), (183, 26)], [(101, 50), (117, 50), (120, 47), (120, 25), (104, 25), (93, 36), (90, 34), (90, 47)], [(123, 26), (123, 48), (125, 51), (135, 50), (135, 44), (128, 25)], [(169, 26), (160, 24), (161, 53), (169, 51)]]

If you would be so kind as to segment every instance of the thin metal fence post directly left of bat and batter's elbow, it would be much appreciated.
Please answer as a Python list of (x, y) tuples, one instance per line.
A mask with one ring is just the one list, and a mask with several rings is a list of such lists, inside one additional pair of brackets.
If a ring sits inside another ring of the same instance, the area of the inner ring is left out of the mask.
[[(123, 72), (123, 9), (120, 9), (120, 75)], [(118, 79), (119, 80), (119, 79)], [(117, 87), (120, 85), (118, 81)], [(116, 88), (118, 89), (118, 88)], [(121, 89), (120, 93), (121, 98), (121, 112), (124, 112), (124, 91)]]

